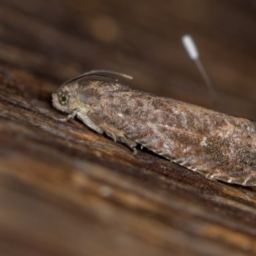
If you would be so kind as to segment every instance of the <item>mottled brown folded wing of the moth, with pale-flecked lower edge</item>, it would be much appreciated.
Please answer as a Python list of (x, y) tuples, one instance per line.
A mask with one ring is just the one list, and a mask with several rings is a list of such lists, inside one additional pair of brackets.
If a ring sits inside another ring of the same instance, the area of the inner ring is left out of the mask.
[(149, 93), (110, 95), (93, 109), (127, 137), (211, 179), (256, 184), (256, 134), (249, 120)]

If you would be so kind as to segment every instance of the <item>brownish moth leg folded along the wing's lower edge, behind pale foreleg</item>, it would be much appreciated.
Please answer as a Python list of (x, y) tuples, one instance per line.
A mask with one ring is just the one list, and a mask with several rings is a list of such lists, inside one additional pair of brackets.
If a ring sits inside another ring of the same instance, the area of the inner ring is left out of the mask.
[(125, 145), (127, 145), (127, 147), (133, 150), (134, 154), (137, 154), (137, 150), (136, 150), (137, 143), (134, 140), (127, 138), (124, 132), (119, 131), (113, 125), (106, 123), (94, 111), (88, 111), (87, 114), (90, 120), (92, 120), (94, 124), (100, 127), (100, 129), (102, 129), (102, 131), (105, 132), (112, 140), (114, 140), (115, 142), (120, 141), (124, 143)]

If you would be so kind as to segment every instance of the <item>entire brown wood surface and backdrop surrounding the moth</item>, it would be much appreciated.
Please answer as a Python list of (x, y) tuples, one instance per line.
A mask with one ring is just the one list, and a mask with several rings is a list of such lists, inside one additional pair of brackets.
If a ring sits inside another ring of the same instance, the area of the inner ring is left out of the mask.
[(256, 255), (256, 191), (205, 179), (78, 120), (51, 93), (93, 69), (256, 120), (255, 1), (0, 0), (0, 255)]

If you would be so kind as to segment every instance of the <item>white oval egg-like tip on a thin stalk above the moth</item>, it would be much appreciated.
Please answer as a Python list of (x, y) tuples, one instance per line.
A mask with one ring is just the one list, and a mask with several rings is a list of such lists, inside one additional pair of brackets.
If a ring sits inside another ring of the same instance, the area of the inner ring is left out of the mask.
[(198, 49), (196, 47), (196, 44), (195, 44), (193, 38), (190, 35), (182, 36), (182, 44), (184, 45), (184, 48), (188, 52), (189, 57), (193, 61), (195, 61), (196, 67), (198, 68), (201, 76), (204, 79), (207, 89), (209, 90), (209, 93), (210, 93), (211, 99), (212, 99), (212, 103), (214, 104), (214, 106), (216, 106), (217, 97), (216, 97), (214, 87), (212, 86), (211, 80), (209, 79), (209, 76), (207, 75), (205, 68), (199, 59), (199, 52), (198, 52)]

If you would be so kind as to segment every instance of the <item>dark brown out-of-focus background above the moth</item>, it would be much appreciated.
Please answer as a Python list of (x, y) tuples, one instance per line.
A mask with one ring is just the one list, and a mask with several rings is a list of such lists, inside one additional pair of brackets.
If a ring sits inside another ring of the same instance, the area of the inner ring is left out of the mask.
[(249, 0), (0, 0), (0, 64), (54, 84), (115, 70), (134, 89), (214, 108), (181, 43), (190, 34), (218, 110), (256, 119), (255, 31)]

